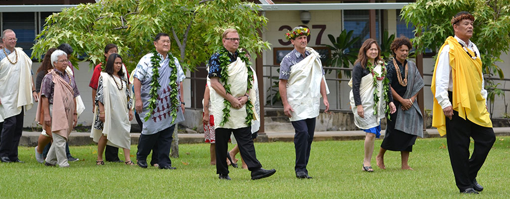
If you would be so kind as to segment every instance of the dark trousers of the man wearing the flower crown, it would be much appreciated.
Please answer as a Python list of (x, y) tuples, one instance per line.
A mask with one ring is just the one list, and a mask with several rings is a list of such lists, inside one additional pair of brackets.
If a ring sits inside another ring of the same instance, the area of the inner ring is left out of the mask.
[(293, 121), (294, 126), (294, 148), (296, 149), (296, 166), (297, 172), (305, 172), (308, 174), (307, 164), (310, 158), (310, 149), (314, 140), (315, 118)]

